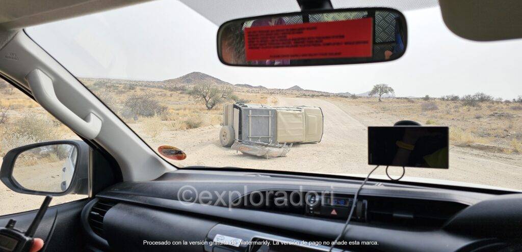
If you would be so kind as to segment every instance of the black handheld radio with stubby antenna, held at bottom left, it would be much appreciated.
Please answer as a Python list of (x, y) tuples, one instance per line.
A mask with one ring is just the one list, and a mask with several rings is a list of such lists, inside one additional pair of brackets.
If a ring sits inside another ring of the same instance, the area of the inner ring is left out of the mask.
[(5, 228), (0, 228), (0, 252), (27, 252), (31, 249), (34, 232), (42, 221), (52, 196), (48, 195), (43, 200), (36, 217), (26, 232), (15, 229), (16, 220), (10, 219)]

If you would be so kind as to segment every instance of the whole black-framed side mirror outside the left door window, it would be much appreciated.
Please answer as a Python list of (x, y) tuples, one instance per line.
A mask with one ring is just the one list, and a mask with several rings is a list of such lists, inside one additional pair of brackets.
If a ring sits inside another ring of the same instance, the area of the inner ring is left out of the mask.
[(83, 141), (25, 145), (5, 155), (0, 180), (23, 194), (87, 194), (89, 161), (90, 147)]

